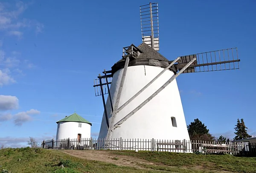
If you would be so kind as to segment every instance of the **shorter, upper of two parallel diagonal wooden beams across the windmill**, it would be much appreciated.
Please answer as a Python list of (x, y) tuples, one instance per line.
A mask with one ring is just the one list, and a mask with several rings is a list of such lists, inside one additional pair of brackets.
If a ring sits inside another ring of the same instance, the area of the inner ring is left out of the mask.
[(142, 93), (148, 86), (150, 86), (155, 80), (157, 80), (157, 78), (159, 78), (167, 69), (169, 69), (174, 63), (176, 63), (178, 60), (180, 59), (180, 57), (176, 58), (174, 61), (172, 61), (172, 63), (170, 63), (169, 66), (167, 66), (165, 69), (163, 69), (162, 72), (160, 72), (154, 79), (152, 79), (147, 85), (145, 85), (142, 89), (140, 89), (139, 92), (137, 92), (132, 98), (130, 98), (128, 101), (125, 102), (125, 104), (123, 104), (121, 107), (118, 108), (118, 110), (116, 111), (117, 113), (119, 111), (121, 111), (124, 107), (126, 107), (129, 103), (131, 103), (131, 101), (134, 100), (134, 98), (136, 98), (138, 95), (140, 95), (140, 93)]

